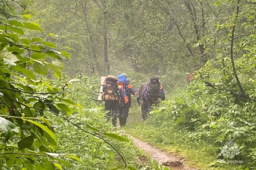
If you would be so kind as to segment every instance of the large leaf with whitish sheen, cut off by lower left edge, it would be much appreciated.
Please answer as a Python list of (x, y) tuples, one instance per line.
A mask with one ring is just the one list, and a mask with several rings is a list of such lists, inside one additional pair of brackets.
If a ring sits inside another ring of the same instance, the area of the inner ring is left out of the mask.
[(9, 120), (0, 117), (0, 136), (4, 136), (6, 140), (17, 134), (19, 129)]

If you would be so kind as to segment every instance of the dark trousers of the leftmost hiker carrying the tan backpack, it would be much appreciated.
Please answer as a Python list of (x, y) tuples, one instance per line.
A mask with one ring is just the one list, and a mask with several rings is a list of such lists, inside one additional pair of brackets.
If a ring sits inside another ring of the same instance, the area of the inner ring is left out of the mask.
[(105, 117), (107, 121), (112, 118), (112, 124), (117, 126), (117, 113), (118, 113), (119, 102), (118, 101), (105, 101), (105, 111), (109, 111), (106, 113)]

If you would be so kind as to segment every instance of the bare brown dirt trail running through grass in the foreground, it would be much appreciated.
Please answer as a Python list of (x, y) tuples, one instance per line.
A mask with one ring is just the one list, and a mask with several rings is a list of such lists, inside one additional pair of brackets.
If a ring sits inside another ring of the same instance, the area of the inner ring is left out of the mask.
[(183, 158), (170, 155), (168, 153), (165, 153), (164, 151), (160, 151), (159, 149), (152, 147), (150, 144), (146, 142), (143, 142), (131, 135), (129, 136), (132, 139), (135, 146), (143, 150), (145, 153), (149, 154), (150, 157), (155, 159), (159, 164), (163, 164), (166, 167), (171, 168), (172, 170), (196, 170), (195, 168), (189, 168), (185, 164)]

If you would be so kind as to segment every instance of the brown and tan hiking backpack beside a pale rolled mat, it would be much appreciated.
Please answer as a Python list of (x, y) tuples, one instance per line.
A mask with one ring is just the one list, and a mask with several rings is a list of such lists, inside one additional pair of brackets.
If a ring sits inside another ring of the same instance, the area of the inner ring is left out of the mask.
[(118, 84), (117, 84), (118, 78), (116, 76), (109, 75), (107, 76), (103, 88), (102, 88), (102, 100), (103, 101), (114, 101), (119, 100), (120, 94), (117, 94), (118, 91)]

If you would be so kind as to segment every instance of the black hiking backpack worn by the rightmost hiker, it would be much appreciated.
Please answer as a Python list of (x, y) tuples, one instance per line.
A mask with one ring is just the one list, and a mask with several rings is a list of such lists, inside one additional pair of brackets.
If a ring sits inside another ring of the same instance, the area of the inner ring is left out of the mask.
[(147, 100), (157, 100), (161, 97), (159, 77), (151, 77), (147, 89)]

